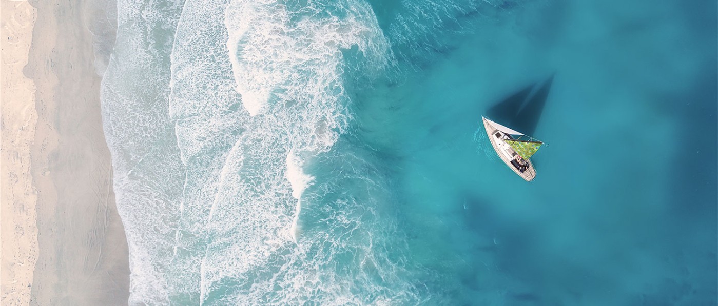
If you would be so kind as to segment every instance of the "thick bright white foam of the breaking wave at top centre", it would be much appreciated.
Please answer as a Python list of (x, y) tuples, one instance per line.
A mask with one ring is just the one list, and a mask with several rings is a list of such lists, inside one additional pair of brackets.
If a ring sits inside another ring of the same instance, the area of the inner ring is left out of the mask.
[[(342, 49), (358, 47), (370, 66), (388, 62), (388, 42), (368, 4), (340, 1), (345, 16), (309, 1), (231, 1), (225, 13), (236, 90), (251, 115), (284, 117), (298, 150), (326, 150), (345, 128)], [(281, 103), (281, 105), (275, 105)]]

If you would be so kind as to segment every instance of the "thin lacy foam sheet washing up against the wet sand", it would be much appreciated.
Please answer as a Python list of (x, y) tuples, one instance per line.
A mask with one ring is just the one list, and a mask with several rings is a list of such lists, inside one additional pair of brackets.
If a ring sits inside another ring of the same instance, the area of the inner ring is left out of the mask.
[(130, 252), (131, 305), (166, 304), (173, 292), (167, 274), (184, 169), (167, 115), (164, 60), (181, 9), (178, 3), (118, 1), (117, 41), (103, 77), (103, 127)]

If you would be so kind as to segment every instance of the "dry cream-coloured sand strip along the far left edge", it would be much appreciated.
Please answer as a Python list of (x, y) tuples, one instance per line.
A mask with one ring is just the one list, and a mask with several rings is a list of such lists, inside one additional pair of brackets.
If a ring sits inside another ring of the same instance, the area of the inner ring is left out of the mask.
[(0, 305), (28, 305), (37, 261), (36, 192), (30, 145), (37, 113), (27, 64), (35, 9), (27, 2), (0, 2)]

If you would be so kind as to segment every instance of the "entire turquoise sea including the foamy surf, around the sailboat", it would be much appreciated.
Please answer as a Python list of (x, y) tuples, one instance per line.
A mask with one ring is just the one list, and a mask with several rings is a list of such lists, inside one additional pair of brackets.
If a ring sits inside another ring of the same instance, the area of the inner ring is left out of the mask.
[[(717, 10), (118, 0), (130, 303), (716, 305)], [(526, 183), (480, 118), (531, 85)]]

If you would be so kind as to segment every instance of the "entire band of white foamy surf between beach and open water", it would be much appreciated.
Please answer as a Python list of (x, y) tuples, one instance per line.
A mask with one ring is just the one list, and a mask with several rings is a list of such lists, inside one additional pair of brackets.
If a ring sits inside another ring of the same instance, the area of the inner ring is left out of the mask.
[[(304, 164), (328, 153), (350, 120), (342, 52), (354, 48), (376, 69), (391, 56), (370, 6), (340, 1), (333, 16), (315, 1), (189, 1), (169, 56), (162, 35), (176, 20), (162, 20), (167, 8), (138, 1), (126, 10), (127, 2), (118, 4), (129, 27), (118, 43), (134, 49), (113, 54), (126, 64), (111, 63), (103, 105), (131, 249), (131, 303), (418, 300), (401, 279), (405, 261), (386, 252), (398, 245), (390, 242), (396, 224), (378, 226), (377, 195), (387, 192), (359, 172), (369, 165), (337, 173), (356, 191), (324, 181), (320, 193), (304, 194), (316, 182)], [(299, 221), (309, 224), (301, 242)]]

